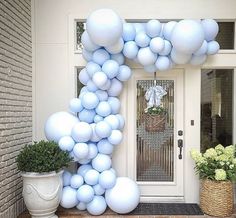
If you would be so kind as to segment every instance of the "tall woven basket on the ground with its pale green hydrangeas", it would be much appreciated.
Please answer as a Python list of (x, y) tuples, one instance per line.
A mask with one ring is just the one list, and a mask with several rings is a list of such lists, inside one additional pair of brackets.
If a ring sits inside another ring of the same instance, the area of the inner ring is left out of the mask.
[(200, 207), (211, 216), (230, 216), (233, 211), (233, 183), (236, 179), (235, 145), (217, 145), (205, 153), (191, 150), (195, 170), (201, 179)]

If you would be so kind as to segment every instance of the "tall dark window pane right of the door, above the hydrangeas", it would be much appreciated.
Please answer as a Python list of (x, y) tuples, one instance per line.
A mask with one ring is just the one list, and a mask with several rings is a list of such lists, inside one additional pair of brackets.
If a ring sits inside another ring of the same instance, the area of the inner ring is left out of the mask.
[(201, 150), (232, 144), (233, 70), (202, 70)]

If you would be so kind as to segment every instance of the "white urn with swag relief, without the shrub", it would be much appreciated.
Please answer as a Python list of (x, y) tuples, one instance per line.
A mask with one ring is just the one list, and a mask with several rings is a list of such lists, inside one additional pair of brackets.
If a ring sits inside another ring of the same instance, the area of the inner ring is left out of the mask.
[(33, 218), (56, 218), (62, 195), (62, 173), (22, 173), (23, 198)]

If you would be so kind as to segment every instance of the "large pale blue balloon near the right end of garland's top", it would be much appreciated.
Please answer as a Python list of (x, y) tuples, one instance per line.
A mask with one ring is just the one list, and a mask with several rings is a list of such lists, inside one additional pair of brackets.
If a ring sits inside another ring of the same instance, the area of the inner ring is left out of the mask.
[(172, 31), (171, 44), (178, 53), (192, 54), (202, 45), (204, 32), (201, 24), (194, 20), (181, 20)]

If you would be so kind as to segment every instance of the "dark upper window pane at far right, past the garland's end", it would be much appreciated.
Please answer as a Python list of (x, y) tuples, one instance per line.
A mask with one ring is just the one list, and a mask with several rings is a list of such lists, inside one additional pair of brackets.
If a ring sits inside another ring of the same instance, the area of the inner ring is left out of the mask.
[(234, 22), (218, 22), (219, 33), (216, 41), (220, 49), (234, 49)]

